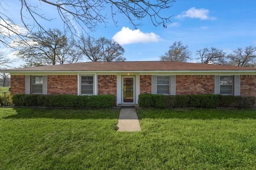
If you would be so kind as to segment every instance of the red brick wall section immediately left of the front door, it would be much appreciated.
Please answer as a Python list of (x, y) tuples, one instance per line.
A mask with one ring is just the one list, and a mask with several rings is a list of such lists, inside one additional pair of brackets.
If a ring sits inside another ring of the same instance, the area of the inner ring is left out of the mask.
[(116, 105), (116, 75), (98, 75), (98, 95), (114, 94)]

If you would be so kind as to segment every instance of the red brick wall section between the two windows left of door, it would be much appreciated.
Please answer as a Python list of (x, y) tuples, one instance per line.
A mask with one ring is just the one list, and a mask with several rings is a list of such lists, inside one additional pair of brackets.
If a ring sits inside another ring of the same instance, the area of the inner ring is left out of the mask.
[(77, 75), (48, 76), (48, 94), (77, 95)]

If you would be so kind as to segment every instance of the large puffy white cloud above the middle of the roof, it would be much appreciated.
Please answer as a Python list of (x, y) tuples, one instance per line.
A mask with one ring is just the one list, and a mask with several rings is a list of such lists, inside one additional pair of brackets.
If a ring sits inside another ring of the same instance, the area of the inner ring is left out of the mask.
[(140, 29), (131, 30), (128, 27), (122, 27), (121, 31), (117, 32), (112, 39), (120, 45), (134, 43), (151, 43), (161, 40), (159, 35), (155, 33), (143, 33)]

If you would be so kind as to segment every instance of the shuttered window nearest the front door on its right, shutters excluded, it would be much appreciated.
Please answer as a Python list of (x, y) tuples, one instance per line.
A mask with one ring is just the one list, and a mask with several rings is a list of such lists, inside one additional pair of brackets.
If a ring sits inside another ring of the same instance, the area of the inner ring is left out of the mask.
[(157, 94), (170, 94), (170, 76), (156, 77)]

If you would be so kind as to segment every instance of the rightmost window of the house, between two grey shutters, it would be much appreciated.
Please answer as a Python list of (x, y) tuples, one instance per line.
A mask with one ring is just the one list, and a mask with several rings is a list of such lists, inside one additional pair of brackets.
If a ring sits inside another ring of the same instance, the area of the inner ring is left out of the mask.
[(233, 76), (220, 76), (220, 94), (233, 94)]

